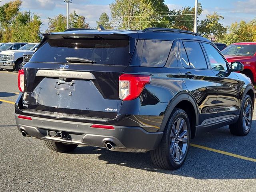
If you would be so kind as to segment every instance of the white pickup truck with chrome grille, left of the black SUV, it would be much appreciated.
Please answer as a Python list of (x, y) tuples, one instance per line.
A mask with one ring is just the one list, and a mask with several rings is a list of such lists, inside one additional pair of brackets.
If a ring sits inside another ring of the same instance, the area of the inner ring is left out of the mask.
[(21, 70), (23, 54), (35, 50), (39, 43), (28, 43), (18, 50), (7, 50), (0, 53), (0, 68), (7, 71)]

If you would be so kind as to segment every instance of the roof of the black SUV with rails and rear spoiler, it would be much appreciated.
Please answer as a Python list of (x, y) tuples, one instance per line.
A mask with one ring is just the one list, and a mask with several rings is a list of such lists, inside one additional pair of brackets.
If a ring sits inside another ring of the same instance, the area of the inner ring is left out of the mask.
[(135, 39), (154, 39), (154, 40), (175, 40), (175, 39), (187, 39), (187, 40), (201, 40), (210, 42), (210, 40), (190, 31), (168, 29), (168, 28), (146, 28), (144, 30), (94, 30), (94, 29), (74, 29), (64, 32), (57, 32), (51, 34), (44, 34), (45, 37), (48, 36), (104, 36), (104, 35), (114, 35), (114, 36), (129, 36)]

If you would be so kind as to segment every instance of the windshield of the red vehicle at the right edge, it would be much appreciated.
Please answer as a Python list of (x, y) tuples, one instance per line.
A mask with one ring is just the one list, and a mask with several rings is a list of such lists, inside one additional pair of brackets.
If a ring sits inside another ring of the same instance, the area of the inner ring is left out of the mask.
[(224, 55), (254, 56), (256, 45), (231, 45), (222, 50)]

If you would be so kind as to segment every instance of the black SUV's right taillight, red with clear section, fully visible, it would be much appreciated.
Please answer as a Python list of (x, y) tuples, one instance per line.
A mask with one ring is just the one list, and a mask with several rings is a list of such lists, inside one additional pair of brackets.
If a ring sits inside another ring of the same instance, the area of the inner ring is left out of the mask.
[(119, 98), (133, 100), (140, 96), (146, 84), (151, 80), (150, 75), (122, 74), (119, 77)]

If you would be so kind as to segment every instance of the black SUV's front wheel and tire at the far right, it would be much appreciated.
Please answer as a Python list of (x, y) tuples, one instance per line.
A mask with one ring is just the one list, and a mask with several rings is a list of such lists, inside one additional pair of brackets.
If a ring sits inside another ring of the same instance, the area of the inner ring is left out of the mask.
[(252, 98), (246, 95), (241, 106), (238, 121), (229, 125), (229, 130), (233, 135), (246, 136), (252, 127)]

